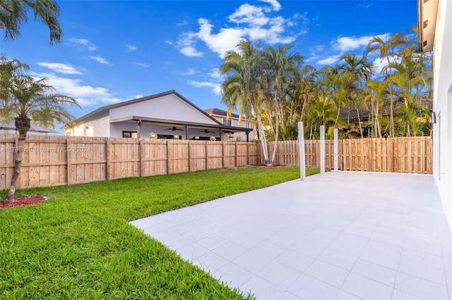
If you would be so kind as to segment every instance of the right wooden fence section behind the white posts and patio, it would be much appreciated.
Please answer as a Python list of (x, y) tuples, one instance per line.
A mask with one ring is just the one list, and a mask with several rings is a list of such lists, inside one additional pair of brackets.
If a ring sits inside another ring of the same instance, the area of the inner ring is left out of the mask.
[[(274, 142), (268, 143), (273, 153)], [(304, 141), (306, 166), (320, 167), (320, 141)], [(432, 174), (432, 137), (338, 140), (339, 170)], [(262, 158), (261, 158), (262, 159)], [(278, 142), (275, 163), (299, 165), (299, 142)], [(333, 140), (325, 141), (325, 166), (333, 169)]]

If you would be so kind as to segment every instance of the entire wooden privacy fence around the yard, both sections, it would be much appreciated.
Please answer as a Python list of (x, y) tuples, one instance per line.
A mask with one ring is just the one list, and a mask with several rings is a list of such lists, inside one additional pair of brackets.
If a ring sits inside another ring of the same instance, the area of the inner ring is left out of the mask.
[[(326, 168), (333, 168), (333, 140), (326, 140)], [(9, 187), (17, 135), (0, 135), (0, 189)], [(305, 141), (306, 166), (319, 168), (320, 141)], [(432, 174), (431, 137), (343, 139), (339, 170)], [(29, 135), (18, 188), (73, 185), (261, 163), (260, 144), (194, 140), (121, 139)], [(268, 143), (273, 153), (273, 142)], [(299, 165), (299, 142), (278, 142), (275, 163)]]

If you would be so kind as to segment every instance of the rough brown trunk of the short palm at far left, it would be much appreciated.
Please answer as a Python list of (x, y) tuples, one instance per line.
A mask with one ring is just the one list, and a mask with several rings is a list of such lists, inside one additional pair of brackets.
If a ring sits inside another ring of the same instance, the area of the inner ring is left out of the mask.
[(14, 157), (13, 177), (11, 177), (11, 185), (8, 194), (4, 197), (5, 201), (13, 201), (14, 193), (16, 193), (17, 180), (20, 174), (20, 166), (22, 165), (23, 151), (25, 149), (25, 138), (30, 130), (30, 119), (25, 115), (19, 115), (16, 118), (16, 128), (19, 132), (18, 143), (16, 144)]

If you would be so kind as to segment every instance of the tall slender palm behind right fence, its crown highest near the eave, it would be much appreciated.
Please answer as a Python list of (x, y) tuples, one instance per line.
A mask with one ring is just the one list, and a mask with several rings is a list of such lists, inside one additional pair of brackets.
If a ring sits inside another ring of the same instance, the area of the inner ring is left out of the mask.
[[(389, 39), (385, 42), (381, 37), (373, 37), (369, 44), (367, 45), (367, 50), (364, 55), (371, 54), (372, 52), (379, 51), (380, 59), (386, 58), (388, 61), (387, 67), (383, 70), (389, 71), (386, 73), (386, 77), (392, 74), (392, 66), (391, 66), (391, 56), (394, 56), (395, 49), (399, 46), (404, 46), (408, 44), (408, 39), (405, 35), (400, 33), (395, 33), (391, 35)], [(391, 122), (391, 137), (395, 134), (394, 127), (394, 99), (393, 99), (393, 88), (389, 85), (389, 107), (390, 107), (390, 122)]]

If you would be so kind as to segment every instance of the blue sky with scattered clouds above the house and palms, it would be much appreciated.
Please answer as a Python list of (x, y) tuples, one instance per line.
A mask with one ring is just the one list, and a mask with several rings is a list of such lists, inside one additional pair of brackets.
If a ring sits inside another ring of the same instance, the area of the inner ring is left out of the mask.
[[(388, 37), (417, 21), (404, 1), (58, 1), (61, 44), (30, 22), (22, 37), (1, 39), (0, 52), (47, 77), (56, 92), (81, 104), (81, 117), (101, 106), (175, 89), (202, 109), (220, 104), (218, 66), (239, 39), (291, 44), (305, 64), (334, 65), (361, 55), (371, 37)], [(3, 32), (4, 34), (4, 32)], [(377, 54), (371, 60), (379, 63)]]

